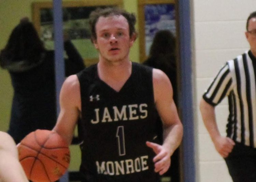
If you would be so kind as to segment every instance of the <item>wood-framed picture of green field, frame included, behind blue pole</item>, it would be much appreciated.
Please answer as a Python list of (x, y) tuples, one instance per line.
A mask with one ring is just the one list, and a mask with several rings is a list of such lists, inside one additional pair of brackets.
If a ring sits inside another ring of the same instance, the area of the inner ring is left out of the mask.
[[(88, 26), (88, 12), (95, 10), (97, 7), (119, 6), (123, 7), (123, 0), (84, 0), (84, 1), (64, 1), (63, 7), (63, 29), (71, 32), (71, 40), (76, 49), (85, 60), (86, 66), (98, 62), (98, 52), (90, 42), (90, 33)], [(54, 48), (53, 41), (53, 2), (34, 2), (32, 3), (32, 20), (35, 29), (45, 43), (46, 49)], [(77, 12), (81, 11), (81, 15)], [(73, 14), (72, 14), (73, 12)], [(85, 15), (86, 14), (86, 15)], [(77, 17), (81, 16), (81, 17)], [(87, 17), (86, 17), (87, 16)], [(42, 18), (43, 17), (43, 18)], [(66, 19), (68, 20), (65, 20)], [(72, 17), (72, 18), (70, 18)], [(77, 19), (75, 19), (75, 18)], [(51, 19), (51, 20), (49, 20)], [(74, 31), (75, 26), (77, 29)], [(75, 34), (77, 37), (75, 37)]]

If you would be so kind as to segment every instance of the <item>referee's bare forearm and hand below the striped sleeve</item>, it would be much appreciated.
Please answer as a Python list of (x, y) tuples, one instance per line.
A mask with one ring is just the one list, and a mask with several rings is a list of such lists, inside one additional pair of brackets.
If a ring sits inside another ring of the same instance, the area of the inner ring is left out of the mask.
[(219, 154), (221, 154), (222, 157), (227, 157), (228, 154), (232, 151), (235, 143), (232, 139), (221, 136), (219, 133), (215, 118), (214, 106), (208, 104), (202, 98), (200, 102), (200, 111), (204, 126), (208, 130), (216, 150), (219, 152)]

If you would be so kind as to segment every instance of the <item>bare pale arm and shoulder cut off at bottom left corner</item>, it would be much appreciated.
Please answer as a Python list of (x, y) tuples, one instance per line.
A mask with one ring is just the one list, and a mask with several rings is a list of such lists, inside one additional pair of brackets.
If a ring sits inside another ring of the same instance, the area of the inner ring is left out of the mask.
[(13, 138), (0, 131), (0, 182), (28, 182)]

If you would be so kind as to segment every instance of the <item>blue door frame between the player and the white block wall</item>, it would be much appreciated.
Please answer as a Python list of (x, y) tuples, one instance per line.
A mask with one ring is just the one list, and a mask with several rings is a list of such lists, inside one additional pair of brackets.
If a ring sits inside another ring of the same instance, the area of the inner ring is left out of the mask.
[(180, 68), (181, 68), (181, 118), (184, 128), (182, 141), (182, 171), (184, 182), (196, 181), (195, 137), (192, 96), (192, 58), (190, 1), (179, 0)]

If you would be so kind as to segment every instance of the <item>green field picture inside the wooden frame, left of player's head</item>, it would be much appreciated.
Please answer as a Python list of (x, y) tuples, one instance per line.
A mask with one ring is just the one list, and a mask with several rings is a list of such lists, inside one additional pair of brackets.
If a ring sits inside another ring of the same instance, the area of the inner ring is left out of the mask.
[[(63, 32), (68, 35), (82, 57), (95, 58), (97, 50), (90, 42), (89, 15), (98, 7), (63, 7)], [(40, 10), (40, 35), (45, 47), (54, 49), (53, 9), (42, 8)]]

